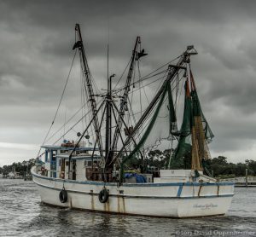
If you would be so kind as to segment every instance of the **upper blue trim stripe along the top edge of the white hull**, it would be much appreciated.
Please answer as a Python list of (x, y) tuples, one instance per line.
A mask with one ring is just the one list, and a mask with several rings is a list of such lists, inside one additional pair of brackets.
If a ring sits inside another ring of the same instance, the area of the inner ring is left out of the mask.
[[(38, 178), (43, 178), (55, 182), (71, 182), (71, 183), (79, 183), (79, 184), (90, 184), (90, 185), (104, 185), (105, 186), (116, 186), (115, 182), (96, 182), (96, 181), (77, 181), (77, 180), (63, 180), (58, 178), (40, 176), (32, 172), (32, 176), (36, 176)], [(145, 182), (145, 183), (123, 183), (125, 187), (166, 187), (166, 186), (235, 186), (235, 182), (163, 182), (163, 183), (152, 183), (152, 182)]]

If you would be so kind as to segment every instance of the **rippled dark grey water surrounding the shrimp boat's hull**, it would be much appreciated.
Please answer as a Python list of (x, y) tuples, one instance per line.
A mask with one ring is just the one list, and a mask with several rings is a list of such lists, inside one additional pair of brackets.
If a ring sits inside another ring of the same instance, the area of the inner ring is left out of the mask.
[(256, 188), (236, 188), (227, 216), (170, 219), (49, 207), (32, 182), (0, 179), (0, 236), (256, 236)]

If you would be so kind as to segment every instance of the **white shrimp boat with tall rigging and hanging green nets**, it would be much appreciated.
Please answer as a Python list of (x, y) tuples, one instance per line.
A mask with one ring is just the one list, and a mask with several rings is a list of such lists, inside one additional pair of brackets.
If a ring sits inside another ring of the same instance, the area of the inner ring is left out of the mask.
[(197, 55), (194, 46), (142, 77), (139, 64), (147, 54), (137, 37), (127, 72), (114, 87), (114, 74), (108, 76), (108, 90), (99, 93), (79, 24), (75, 35), (73, 50), (79, 53), (84, 111), (79, 122), (83, 126), (76, 122), (67, 128), (65, 119), (64, 135), (52, 145), (44, 139), (44, 153), (38, 153), (32, 167), (42, 202), (154, 217), (224, 215), (234, 183), (219, 182), (207, 170), (211, 158), (207, 144), (213, 134), (191, 71), (190, 60)]

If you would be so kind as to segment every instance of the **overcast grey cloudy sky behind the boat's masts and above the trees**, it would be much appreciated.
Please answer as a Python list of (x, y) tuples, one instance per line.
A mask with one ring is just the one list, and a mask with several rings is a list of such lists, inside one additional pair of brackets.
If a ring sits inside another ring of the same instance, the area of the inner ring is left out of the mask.
[[(253, 1), (2, 0), (0, 166), (36, 157), (73, 60), (75, 23), (100, 88), (107, 73), (108, 29), (110, 72), (117, 75), (137, 35), (148, 52), (145, 71), (194, 44), (199, 55), (193, 72), (215, 134), (212, 156), (255, 159), (255, 9)], [(67, 103), (76, 100), (73, 91)]]

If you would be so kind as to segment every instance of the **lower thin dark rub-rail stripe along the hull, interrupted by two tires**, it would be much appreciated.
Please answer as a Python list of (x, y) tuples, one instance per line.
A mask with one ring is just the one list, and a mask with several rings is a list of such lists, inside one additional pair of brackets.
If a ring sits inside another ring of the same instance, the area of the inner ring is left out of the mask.
[[(53, 190), (58, 190), (61, 191), (62, 188), (53, 188), (49, 186), (44, 186), (42, 184), (39, 184), (38, 182), (35, 182), (38, 186), (43, 187), (43, 188), (49, 188)], [(182, 186), (180, 186), (182, 187)], [(98, 195), (96, 193), (88, 193), (88, 192), (80, 192), (80, 191), (75, 191), (75, 190), (67, 190), (67, 193), (73, 193), (73, 194), (85, 194), (85, 195)], [(111, 197), (122, 197), (126, 199), (212, 199), (212, 198), (226, 198), (226, 197), (233, 197), (234, 194), (224, 194), (224, 195), (208, 195), (208, 196), (190, 196), (190, 197), (169, 197), (169, 196), (133, 196), (133, 195), (119, 195), (119, 194), (109, 194)]]

